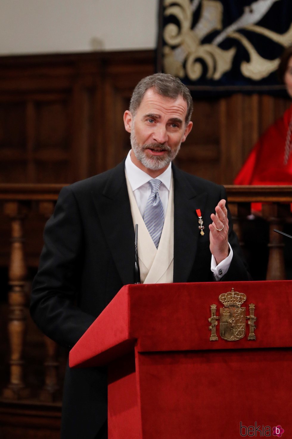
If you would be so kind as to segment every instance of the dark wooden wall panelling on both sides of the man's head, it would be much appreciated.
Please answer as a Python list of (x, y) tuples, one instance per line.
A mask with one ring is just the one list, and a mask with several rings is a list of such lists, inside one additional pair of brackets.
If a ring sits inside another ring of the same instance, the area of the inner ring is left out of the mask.
[[(0, 182), (71, 183), (115, 166), (133, 87), (153, 51), (0, 58)], [(234, 94), (195, 100), (180, 168), (232, 184), (252, 145), (290, 102)]]

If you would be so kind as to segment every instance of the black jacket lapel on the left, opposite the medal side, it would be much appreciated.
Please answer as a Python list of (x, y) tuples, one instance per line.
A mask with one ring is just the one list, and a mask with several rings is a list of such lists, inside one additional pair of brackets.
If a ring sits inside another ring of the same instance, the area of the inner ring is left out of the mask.
[(133, 283), (133, 219), (126, 186), (125, 160), (112, 172), (101, 189), (92, 192), (97, 215), (124, 285)]

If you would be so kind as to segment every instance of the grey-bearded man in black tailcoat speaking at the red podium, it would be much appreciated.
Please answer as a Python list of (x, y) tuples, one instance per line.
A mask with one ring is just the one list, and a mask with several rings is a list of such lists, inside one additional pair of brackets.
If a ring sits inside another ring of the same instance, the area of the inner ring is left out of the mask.
[[(124, 114), (132, 145), (126, 160), (61, 190), (45, 227), (31, 299), (33, 320), (60, 345), (70, 349), (119, 289), (133, 283), (133, 219), (144, 218), (149, 181), (157, 177), (155, 203), (161, 205), (169, 236), (162, 230), (155, 247), (150, 231), (145, 239), (154, 255), (166, 241), (173, 242), (167, 246), (171, 263), (158, 282), (248, 280), (224, 187), (171, 165), (191, 131), (191, 112), (190, 93), (179, 79), (164, 74), (142, 79)], [(142, 251), (144, 245), (140, 242)], [(148, 271), (142, 281), (147, 282)], [(62, 438), (106, 438), (106, 418), (106, 369), (67, 367)]]

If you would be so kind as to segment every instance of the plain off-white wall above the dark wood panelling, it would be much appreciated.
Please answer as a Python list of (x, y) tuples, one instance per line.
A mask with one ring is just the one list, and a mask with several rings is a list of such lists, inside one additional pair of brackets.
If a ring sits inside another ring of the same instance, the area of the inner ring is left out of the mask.
[(158, 0), (0, 0), (0, 55), (156, 47)]

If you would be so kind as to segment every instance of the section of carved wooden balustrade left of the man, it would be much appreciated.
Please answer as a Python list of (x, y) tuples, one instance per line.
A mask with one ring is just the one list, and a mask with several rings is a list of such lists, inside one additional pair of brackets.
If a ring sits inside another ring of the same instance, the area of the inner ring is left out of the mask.
[[(4, 216), (11, 222), (11, 250), (7, 258), (8, 278), (11, 287), (8, 293), (9, 313), (7, 316), (10, 345), (10, 380), (2, 390), (2, 398), (8, 400), (29, 399), (30, 389), (23, 378), (23, 349), (26, 332), (26, 309), (29, 299), (26, 294), (27, 261), (25, 257), (24, 223), (34, 212), (44, 223), (53, 213), (54, 204), (63, 185), (60, 184), (0, 184), (0, 201)], [(41, 225), (43, 227), (43, 224)], [(6, 230), (1, 230), (5, 233)], [(41, 242), (39, 247), (41, 249)], [(53, 402), (59, 398), (57, 346), (43, 336), (47, 358), (43, 364), (43, 389), (39, 399)]]

